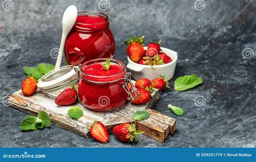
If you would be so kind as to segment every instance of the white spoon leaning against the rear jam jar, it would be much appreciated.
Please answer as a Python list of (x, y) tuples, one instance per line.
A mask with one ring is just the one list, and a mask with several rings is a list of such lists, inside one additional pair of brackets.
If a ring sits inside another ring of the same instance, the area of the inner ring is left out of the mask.
[(75, 24), (76, 19), (77, 19), (77, 8), (75, 5), (70, 5), (68, 8), (66, 8), (62, 17), (62, 40), (59, 46), (59, 53), (58, 53), (58, 58), (55, 64), (55, 69), (58, 69), (60, 67), (60, 64), (62, 63), (62, 53), (64, 50), (66, 37), (68, 36), (70, 30), (73, 28), (73, 25)]

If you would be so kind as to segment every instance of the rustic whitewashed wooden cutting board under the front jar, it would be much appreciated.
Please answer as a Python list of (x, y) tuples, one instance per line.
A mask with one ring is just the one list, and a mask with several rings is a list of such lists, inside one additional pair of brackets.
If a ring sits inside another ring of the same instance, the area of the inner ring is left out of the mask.
[[(75, 84), (75, 86), (77, 86), (77, 84)], [(65, 87), (65, 89), (66, 88), (67, 87)], [(136, 105), (127, 101), (120, 109), (110, 112), (91, 111), (78, 103), (76, 106), (79, 106), (84, 111), (84, 114), (81, 118), (75, 120), (67, 115), (68, 110), (75, 105), (57, 106), (54, 103), (55, 97), (63, 90), (64, 89), (60, 89), (48, 93), (37, 90), (37, 92), (30, 97), (25, 97), (22, 91), (19, 90), (12, 93), (9, 98), (9, 103), (12, 107), (33, 116), (37, 116), (39, 111), (44, 110), (52, 119), (52, 124), (86, 138), (90, 137), (89, 127), (95, 120), (102, 122), (107, 127), (109, 133), (111, 133), (113, 127), (118, 124), (127, 122), (134, 123), (137, 130), (143, 131), (146, 136), (160, 142), (163, 142), (169, 134), (173, 134), (176, 130), (176, 119), (151, 110), (151, 107), (159, 99), (158, 92), (153, 93), (152, 99), (147, 104)], [(149, 118), (141, 122), (134, 121), (132, 114), (138, 110), (148, 111), (150, 113)]]

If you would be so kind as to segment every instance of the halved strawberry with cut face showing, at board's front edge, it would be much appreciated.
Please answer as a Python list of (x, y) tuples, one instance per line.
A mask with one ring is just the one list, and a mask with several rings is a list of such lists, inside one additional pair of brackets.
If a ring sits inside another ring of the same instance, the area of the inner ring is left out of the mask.
[(93, 122), (90, 133), (93, 138), (102, 143), (106, 143), (109, 140), (109, 133), (107, 133), (106, 127), (102, 122)]

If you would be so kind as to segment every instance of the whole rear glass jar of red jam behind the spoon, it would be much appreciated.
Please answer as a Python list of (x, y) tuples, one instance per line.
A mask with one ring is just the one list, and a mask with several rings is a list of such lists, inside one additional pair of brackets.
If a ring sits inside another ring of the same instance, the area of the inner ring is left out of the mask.
[(96, 58), (113, 58), (114, 37), (109, 18), (100, 12), (79, 12), (65, 42), (65, 59), (69, 65), (83, 64)]

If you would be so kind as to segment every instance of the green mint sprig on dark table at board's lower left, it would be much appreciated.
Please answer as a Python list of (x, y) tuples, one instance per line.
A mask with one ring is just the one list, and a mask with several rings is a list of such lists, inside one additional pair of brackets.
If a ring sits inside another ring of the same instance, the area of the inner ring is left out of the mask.
[(37, 130), (43, 129), (43, 127), (50, 127), (51, 126), (51, 118), (45, 111), (40, 111), (37, 117), (28, 116), (23, 119), (20, 127), (21, 130), (28, 131), (28, 130)]

